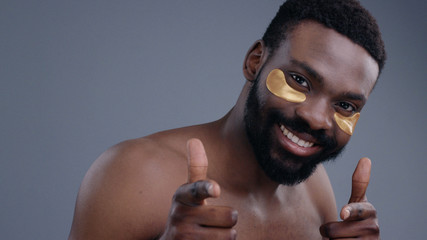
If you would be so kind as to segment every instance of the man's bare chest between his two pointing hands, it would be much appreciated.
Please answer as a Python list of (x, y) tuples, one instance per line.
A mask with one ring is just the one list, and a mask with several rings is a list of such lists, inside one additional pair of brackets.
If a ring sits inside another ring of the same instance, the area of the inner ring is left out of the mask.
[(238, 240), (322, 239), (319, 227), (323, 217), (304, 194), (286, 201), (228, 200), (213, 204), (228, 205), (238, 211)]

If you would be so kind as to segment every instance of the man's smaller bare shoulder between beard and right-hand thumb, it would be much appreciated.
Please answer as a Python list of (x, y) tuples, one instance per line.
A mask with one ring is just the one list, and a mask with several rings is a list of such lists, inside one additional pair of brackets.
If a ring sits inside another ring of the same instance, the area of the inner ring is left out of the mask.
[(313, 175), (307, 180), (307, 190), (323, 218), (323, 222), (337, 220), (337, 208), (334, 191), (325, 167), (319, 164)]

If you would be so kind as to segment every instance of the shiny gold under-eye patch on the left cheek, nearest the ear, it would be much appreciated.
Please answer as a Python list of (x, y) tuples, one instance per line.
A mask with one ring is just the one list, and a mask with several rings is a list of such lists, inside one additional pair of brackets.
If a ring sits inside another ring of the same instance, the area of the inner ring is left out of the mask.
[(294, 103), (305, 101), (305, 94), (289, 86), (286, 82), (285, 74), (280, 69), (273, 69), (268, 74), (266, 85), (271, 93), (286, 101)]

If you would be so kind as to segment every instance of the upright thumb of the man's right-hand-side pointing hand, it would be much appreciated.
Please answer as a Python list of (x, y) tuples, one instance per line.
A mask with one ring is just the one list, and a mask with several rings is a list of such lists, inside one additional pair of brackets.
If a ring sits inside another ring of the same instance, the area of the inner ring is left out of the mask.
[(359, 160), (353, 173), (351, 196), (348, 203), (361, 202), (366, 200), (366, 189), (368, 188), (371, 176), (371, 160), (362, 158)]

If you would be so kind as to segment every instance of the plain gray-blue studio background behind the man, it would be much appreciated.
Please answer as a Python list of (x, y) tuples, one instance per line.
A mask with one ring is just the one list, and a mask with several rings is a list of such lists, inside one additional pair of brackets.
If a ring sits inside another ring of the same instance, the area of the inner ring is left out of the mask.
[[(106, 148), (223, 116), (280, 3), (2, 0), (0, 238), (67, 238), (80, 182)], [(362, 3), (388, 62), (327, 169), (340, 208), (357, 160), (371, 157), (383, 239), (425, 239), (426, 2)]]

